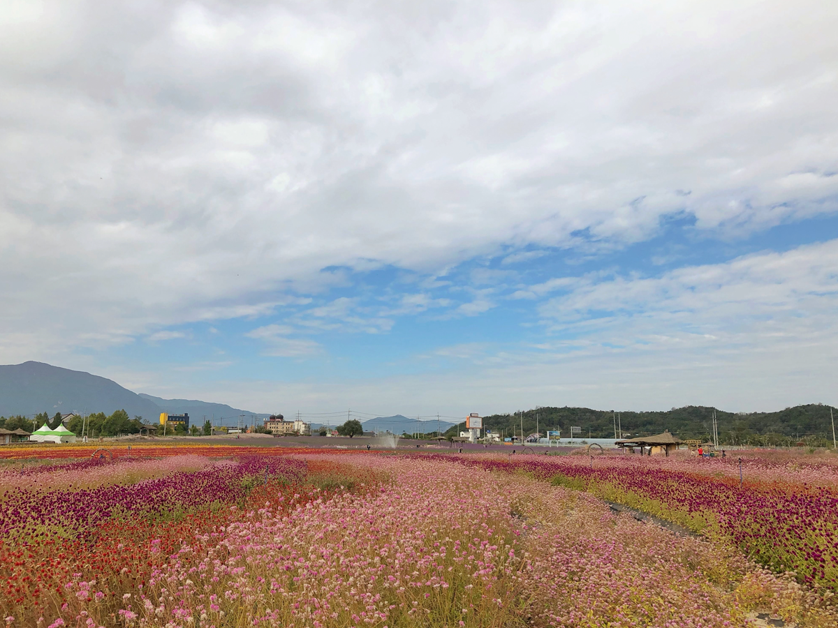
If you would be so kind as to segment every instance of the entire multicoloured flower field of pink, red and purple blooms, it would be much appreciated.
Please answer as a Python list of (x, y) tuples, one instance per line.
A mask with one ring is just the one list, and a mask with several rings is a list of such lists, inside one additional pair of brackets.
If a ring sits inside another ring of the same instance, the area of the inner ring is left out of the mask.
[[(838, 623), (834, 559), (795, 579), (748, 558), (760, 558), (755, 527), (788, 535), (794, 508), (814, 526), (800, 528), (804, 543), (834, 542), (817, 510), (828, 469), (781, 504), (797, 485), (777, 469), (740, 488), (688, 461), (207, 449), (3, 466), (6, 624), (744, 626), (756, 612)], [(645, 499), (709, 534), (675, 536), (600, 497)], [(711, 497), (722, 505), (702, 509)], [(779, 523), (765, 520), (772, 504), (789, 511)], [(737, 528), (736, 507), (763, 511)]]

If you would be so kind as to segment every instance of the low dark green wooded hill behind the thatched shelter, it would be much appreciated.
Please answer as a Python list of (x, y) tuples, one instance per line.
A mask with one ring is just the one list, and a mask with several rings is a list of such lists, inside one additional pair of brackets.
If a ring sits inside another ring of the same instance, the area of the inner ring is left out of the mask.
[[(804, 437), (832, 440), (830, 406), (822, 404), (798, 405), (777, 412), (753, 412), (739, 414), (706, 406), (688, 405), (660, 412), (620, 412), (623, 436), (660, 434), (670, 430), (681, 439), (706, 440), (711, 435), (713, 411), (716, 411), (720, 439), (727, 443), (749, 442), (749, 435), (773, 438), (777, 444), (785, 440), (802, 440)], [(838, 411), (835, 411), (838, 420)], [(524, 432), (535, 432), (536, 417), (539, 430), (561, 430), (562, 436), (569, 436), (571, 426), (582, 428), (582, 436), (592, 438), (613, 438), (614, 423), (612, 410), (590, 408), (535, 408), (522, 414), (492, 414), (484, 417), (484, 425), (493, 430), (504, 430), (512, 435), (520, 434), (523, 419)], [(448, 434), (453, 434), (449, 430)]]

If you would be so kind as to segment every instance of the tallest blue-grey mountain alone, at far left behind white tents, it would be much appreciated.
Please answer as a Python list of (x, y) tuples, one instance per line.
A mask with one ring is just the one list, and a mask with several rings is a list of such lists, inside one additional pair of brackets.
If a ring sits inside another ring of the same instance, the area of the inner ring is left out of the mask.
[(56, 412), (79, 414), (124, 409), (129, 416), (155, 420), (156, 404), (98, 375), (42, 362), (0, 366), (0, 416)]

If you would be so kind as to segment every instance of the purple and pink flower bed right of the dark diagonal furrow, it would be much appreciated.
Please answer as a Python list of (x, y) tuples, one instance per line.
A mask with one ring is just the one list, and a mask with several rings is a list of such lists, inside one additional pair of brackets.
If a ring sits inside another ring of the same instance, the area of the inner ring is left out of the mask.
[[(750, 458), (463, 456), (460, 464), (527, 472), (729, 540), (774, 572), (838, 593), (838, 466)], [(746, 481), (747, 478), (747, 481)], [(816, 480), (816, 482), (813, 482)], [(812, 482), (812, 483), (810, 483)]]

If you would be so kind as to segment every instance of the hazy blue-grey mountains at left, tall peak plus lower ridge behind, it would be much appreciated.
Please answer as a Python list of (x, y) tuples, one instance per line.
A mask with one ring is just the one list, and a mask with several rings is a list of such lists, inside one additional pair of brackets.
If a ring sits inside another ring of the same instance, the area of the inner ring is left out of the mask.
[(223, 425), (235, 425), (240, 414), (264, 419), (267, 414), (232, 408), (226, 404), (211, 404), (189, 399), (162, 399), (150, 394), (136, 394), (122, 388), (111, 379), (83, 371), (55, 367), (41, 362), (24, 362), (0, 366), (0, 416), (31, 415), (46, 412), (67, 414), (76, 412), (112, 414), (124, 409), (128, 416), (142, 416), (147, 422), (157, 422), (161, 412), (189, 413), (193, 425), (209, 419), (225, 419)]

